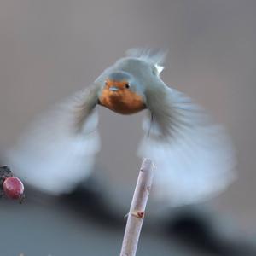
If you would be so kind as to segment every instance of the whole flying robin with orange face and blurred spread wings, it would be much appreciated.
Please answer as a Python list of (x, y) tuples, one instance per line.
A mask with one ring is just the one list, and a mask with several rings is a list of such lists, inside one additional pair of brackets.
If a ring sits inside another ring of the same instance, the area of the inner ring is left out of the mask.
[(218, 195), (236, 179), (234, 147), (223, 125), (161, 79), (165, 60), (164, 50), (128, 50), (90, 86), (35, 119), (7, 152), (8, 165), (46, 193), (72, 191), (90, 176), (101, 148), (97, 108), (144, 110), (137, 154), (156, 166), (155, 200), (176, 207)]

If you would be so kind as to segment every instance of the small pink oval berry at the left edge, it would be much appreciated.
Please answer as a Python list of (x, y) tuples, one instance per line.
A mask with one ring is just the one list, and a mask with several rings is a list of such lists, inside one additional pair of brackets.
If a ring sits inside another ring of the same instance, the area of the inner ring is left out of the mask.
[(24, 193), (24, 185), (18, 177), (7, 177), (3, 182), (4, 194), (11, 199), (19, 199)]

